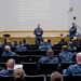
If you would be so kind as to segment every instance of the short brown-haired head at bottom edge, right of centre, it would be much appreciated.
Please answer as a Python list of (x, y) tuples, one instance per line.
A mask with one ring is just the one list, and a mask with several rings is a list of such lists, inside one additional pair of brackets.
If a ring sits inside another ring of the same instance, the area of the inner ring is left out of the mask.
[(64, 81), (63, 76), (58, 71), (54, 71), (50, 76), (51, 81)]

